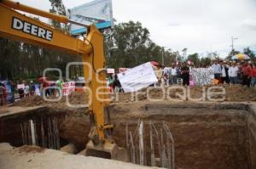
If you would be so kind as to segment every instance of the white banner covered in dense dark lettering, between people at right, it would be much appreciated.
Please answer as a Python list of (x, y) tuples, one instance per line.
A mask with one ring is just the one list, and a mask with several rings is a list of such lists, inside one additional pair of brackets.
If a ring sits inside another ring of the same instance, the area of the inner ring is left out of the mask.
[(195, 85), (211, 85), (214, 79), (214, 70), (212, 68), (193, 68), (191, 76)]

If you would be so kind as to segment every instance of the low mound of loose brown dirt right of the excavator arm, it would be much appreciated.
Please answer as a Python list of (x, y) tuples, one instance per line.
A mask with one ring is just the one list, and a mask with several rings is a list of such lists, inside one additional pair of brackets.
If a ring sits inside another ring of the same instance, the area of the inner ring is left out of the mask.
[[(249, 87), (242, 87), (241, 85), (236, 86), (218, 86), (219, 88), (211, 89), (212, 86), (207, 87), (188, 87), (188, 88), (171, 88), (166, 87), (162, 88), (143, 88), (138, 91), (137, 94), (133, 93), (119, 93), (118, 96), (115, 96), (113, 99), (113, 103), (130, 103), (134, 101), (145, 101), (150, 99), (180, 99), (181, 101), (186, 100), (186, 97), (183, 96), (188, 95), (191, 99), (201, 99), (203, 93), (205, 92), (205, 101), (209, 101), (207, 99), (207, 94), (209, 91), (211, 92), (222, 92), (220, 94), (216, 94), (212, 96), (212, 99), (223, 99), (221, 101), (256, 101), (256, 90)], [(222, 88), (223, 87), (223, 88)], [(222, 88), (222, 89), (221, 89)]]

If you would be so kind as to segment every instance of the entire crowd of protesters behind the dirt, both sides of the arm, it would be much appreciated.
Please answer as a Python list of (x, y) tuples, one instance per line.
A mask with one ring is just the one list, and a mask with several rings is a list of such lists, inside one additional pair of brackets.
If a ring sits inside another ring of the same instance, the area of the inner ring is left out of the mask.
[[(171, 85), (191, 85), (192, 81), (191, 70), (195, 68), (193, 62), (184, 62), (183, 64), (172, 64), (172, 67), (163, 69), (161, 65), (154, 65), (155, 76), (158, 79), (153, 86), (171, 86)], [(256, 86), (256, 64), (252, 61), (239, 60), (239, 61), (227, 61), (227, 60), (212, 60), (212, 65), (201, 66), (201, 68), (212, 68), (214, 71), (215, 84), (241, 84), (247, 87)], [(111, 92), (124, 92), (119, 82), (117, 74), (110, 74), (107, 78), (108, 87)], [(62, 82), (46, 81), (35, 83), (33, 81), (22, 83), (17, 85), (17, 92), (20, 95), (20, 99), (38, 95), (42, 96), (43, 91), (45, 95), (58, 94), (55, 87), (62, 87)], [(6, 87), (0, 83), (0, 105), (6, 104)]]

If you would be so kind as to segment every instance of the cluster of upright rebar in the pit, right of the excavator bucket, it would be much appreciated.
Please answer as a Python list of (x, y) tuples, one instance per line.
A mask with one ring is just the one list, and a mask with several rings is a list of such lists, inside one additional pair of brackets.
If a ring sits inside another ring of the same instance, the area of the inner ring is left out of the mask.
[[(133, 133), (126, 123), (125, 133), (131, 163), (175, 168), (174, 139), (165, 121), (155, 124), (139, 120)], [(148, 144), (146, 140), (149, 140)]]

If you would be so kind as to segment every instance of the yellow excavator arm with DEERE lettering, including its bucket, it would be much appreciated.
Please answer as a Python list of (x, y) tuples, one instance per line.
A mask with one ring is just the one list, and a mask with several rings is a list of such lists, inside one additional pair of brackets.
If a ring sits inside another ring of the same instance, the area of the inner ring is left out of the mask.
[[(113, 124), (110, 123), (107, 112), (109, 96), (108, 94), (99, 94), (108, 93), (106, 71), (104, 70), (106, 62), (103, 54), (102, 33), (96, 28), (96, 25), (84, 25), (87, 27), (87, 35), (84, 36), (82, 41), (58, 31), (44, 22), (20, 14), (16, 10), (36, 14), (65, 24), (70, 22), (77, 25), (81, 24), (68, 20), (66, 16), (51, 14), (9, 0), (0, 0), (0, 37), (81, 56), (83, 63), (85, 63), (84, 79), (90, 78), (90, 82), (86, 85), (91, 89), (91, 104), (89, 106), (90, 141), (86, 144), (85, 155), (125, 161), (127, 158), (124, 155), (125, 149), (119, 148), (111, 137)], [(92, 70), (90, 66), (87, 66), (88, 64), (91, 65)], [(123, 159), (119, 159), (120, 156)]]

